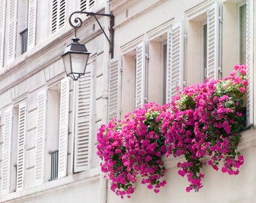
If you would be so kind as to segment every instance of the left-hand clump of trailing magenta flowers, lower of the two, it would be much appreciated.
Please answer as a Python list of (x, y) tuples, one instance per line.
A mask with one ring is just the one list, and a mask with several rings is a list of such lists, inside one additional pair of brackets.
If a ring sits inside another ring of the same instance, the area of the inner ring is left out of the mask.
[(127, 114), (123, 123), (114, 119), (99, 129), (97, 154), (104, 161), (102, 171), (111, 180), (111, 190), (122, 198), (133, 193), (138, 174), (154, 192), (166, 184), (160, 180), (165, 174), (161, 156), (166, 153), (160, 112), (163, 109), (152, 102)]

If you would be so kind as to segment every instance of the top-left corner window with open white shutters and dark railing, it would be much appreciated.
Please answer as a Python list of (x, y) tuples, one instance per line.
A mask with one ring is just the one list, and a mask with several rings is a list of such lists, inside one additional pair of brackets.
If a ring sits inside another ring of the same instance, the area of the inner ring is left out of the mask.
[[(0, 66), (35, 46), (37, 0), (2, 1)], [(5, 38), (5, 40), (4, 40)], [(5, 49), (5, 55), (4, 55)]]

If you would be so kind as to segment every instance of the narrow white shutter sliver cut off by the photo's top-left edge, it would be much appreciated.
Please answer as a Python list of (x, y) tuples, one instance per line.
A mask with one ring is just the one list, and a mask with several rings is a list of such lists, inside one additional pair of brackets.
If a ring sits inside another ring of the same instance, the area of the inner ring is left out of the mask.
[(0, 0), (0, 68), (4, 65), (5, 0)]

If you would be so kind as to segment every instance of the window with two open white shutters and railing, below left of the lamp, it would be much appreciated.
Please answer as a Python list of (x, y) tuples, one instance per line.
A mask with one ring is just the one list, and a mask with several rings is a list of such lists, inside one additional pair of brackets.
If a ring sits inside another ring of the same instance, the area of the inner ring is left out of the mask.
[(68, 129), (69, 78), (66, 77), (38, 93), (35, 184), (66, 176)]

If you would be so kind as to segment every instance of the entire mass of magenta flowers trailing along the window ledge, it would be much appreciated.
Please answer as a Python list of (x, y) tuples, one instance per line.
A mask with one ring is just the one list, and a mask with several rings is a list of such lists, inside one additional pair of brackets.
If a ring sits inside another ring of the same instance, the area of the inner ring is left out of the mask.
[[(238, 174), (243, 156), (237, 151), (243, 128), (243, 96), (247, 86), (245, 66), (236, 65), (229, 77), (184, 88), (172, 102), (151, 102), (113, 119), (99, 129), (97, 155), (102, 171), (111, 180), (111, 190), (122, 198), (134, 192), (136, 176), (159, 192), (166, 184), (161, 156), (184, 156), (178, 174), (187, 176), (191, 189), (203, 187), (201, 168), (211, 165), (228, 174)], [(207, 161), (208, 160), (208, 161)]]

